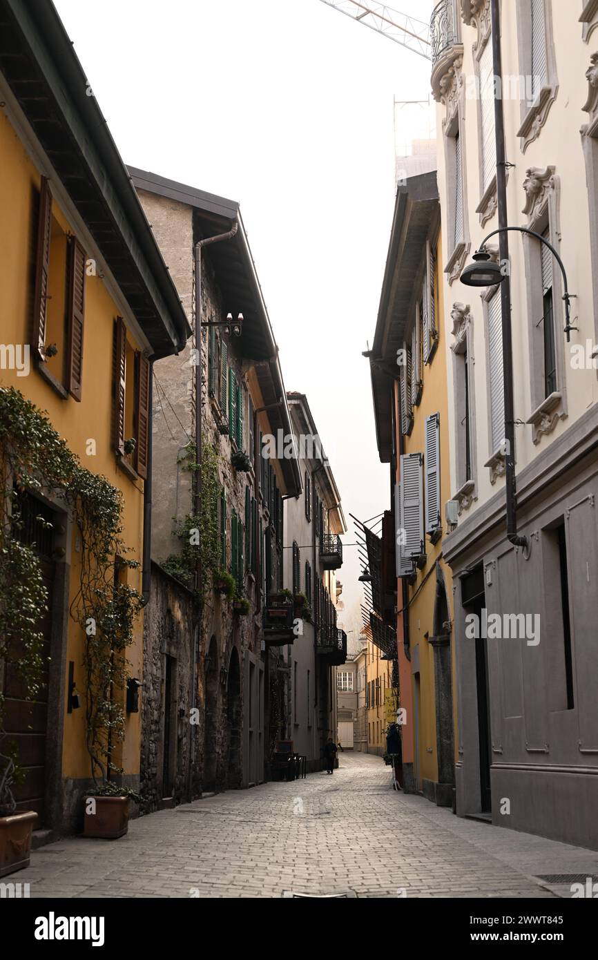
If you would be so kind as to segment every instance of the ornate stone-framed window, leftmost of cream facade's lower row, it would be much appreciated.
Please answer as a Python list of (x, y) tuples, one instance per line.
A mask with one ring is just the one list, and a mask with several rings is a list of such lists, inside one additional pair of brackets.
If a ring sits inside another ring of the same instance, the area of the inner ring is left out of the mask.
[[(453, 500), (459, 502), (459, 514), (468, 510), (474, 500), (477, 500), (477, 443), (475, 422), (475, 393), (474, 368), (475, 354), (473, 350), (473, 315), (468, 303), (453, 303), (450, 316), (453, 322), (452, 335), (454, 342), (450, 345), (453, 354), (453, 393), (455, 410), (455, 477), (457, 492)], [(469, 462), (471, 476), (466, 477), (466, 434), (461, 428), (462, 413), (465, 410), (465, 377), (461, 375), (464, 365), (467, 366), (467, 383), (469, 386)]]

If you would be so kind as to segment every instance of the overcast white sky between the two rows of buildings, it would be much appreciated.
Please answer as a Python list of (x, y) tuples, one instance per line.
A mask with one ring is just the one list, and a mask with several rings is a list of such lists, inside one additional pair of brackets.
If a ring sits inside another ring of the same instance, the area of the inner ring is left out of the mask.
[[(390, 506), (361, 351), (395, 204), (394, 98), (427, 97), (428, 61), (321, 0), (55, 2), (125, 162), (240, 201), (285, 386), (308, 398), (355, 542), (349, 511)], [(356, 548), (345, 558), (348, 612)]]

